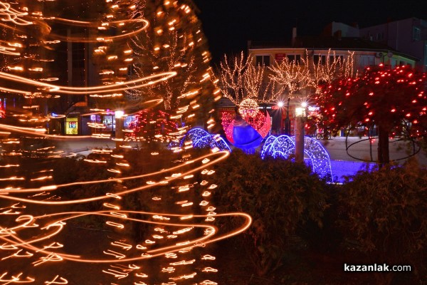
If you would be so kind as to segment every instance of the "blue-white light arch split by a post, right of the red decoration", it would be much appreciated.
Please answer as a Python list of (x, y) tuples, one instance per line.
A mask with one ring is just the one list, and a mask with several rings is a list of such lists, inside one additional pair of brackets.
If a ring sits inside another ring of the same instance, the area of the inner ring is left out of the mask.
[[(310, 157), (313, 172), (316, 172), (328, 182), (333, 182), (330, 156), (325, 147), (313, 138), (304, 137), (304, 152)], [(268, 156), (288, 158), (293, 153), (295, 153), (295, 137), (288, 137), (288, 135), (275, 137), (270, 135), (265, 140), (261, 158), (264, 159)]]

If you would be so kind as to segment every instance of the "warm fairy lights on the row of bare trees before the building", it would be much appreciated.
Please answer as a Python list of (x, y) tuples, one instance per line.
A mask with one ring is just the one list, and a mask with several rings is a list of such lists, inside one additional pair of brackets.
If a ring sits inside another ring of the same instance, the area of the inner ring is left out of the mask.
[(302, 91), (319, 93), (319, 83), (330, 83), (339, 76), (355, 76), (353, 52), (347, 56), (337, 56), (328, 50), (325, 64), (309, 60), (308, 52), (300, 61), (285, 57), (272, 66), (256, 66), (253, 56), (228, 58), (220, 63), (216, 85), (235, 105), (252, 99), (257, 103), (273, 103), (285, 95), (294, 98)]

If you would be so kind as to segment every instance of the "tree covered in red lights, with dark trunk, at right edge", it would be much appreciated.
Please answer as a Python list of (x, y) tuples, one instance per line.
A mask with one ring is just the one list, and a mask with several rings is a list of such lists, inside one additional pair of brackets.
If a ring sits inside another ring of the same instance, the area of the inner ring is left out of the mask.
[(322, 123), (340, 128), (378, 127), (378, 160), (389, 163), (389, 135), (427, 136), (427, 80), (408, 66), (367, 68), (357, 78), (338, 78), (317, 95)]

